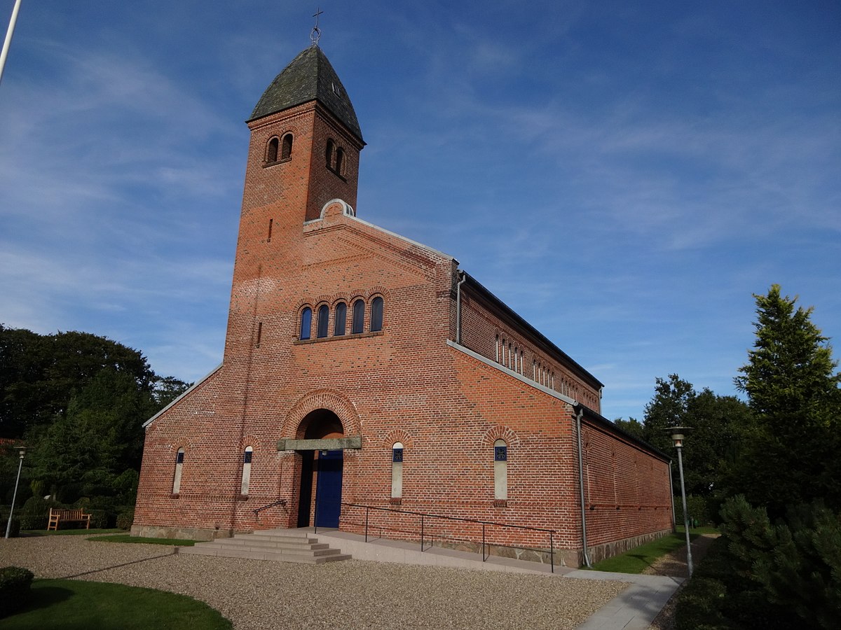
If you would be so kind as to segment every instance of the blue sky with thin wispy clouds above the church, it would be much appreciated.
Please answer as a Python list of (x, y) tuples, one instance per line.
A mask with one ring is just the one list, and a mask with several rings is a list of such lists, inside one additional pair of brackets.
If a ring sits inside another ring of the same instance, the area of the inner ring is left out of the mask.
[[(188, 381), (220, 362), (243, 121), (315, 13), (225, 4), (24, 0), (0, 323)], [(841, 339), (838, 2), (320, 6), (368, 142), (359, 217), (455, 256), (605, 383), (606, 417), (670, 373), (735, 393), (775, 282)]]

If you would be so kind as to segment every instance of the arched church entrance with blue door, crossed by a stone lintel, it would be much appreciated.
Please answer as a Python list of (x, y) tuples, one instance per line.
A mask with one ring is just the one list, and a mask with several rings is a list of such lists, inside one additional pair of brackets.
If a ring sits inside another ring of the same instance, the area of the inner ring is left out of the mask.
[[(343, 438), (341, 420), (329, 409), (315, 409), (301, 420), (299, 438), (321, 440)], [(301, 483), (298, 501), (298, 527), (315, 524), (318, 528), (338, 528), (341, 514), (341, 474), (343, 451), (299, 450)]]

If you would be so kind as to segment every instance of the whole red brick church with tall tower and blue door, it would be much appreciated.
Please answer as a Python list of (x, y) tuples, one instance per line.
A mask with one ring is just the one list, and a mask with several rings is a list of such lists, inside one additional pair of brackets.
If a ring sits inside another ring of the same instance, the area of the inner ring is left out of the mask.
[(579, 564), (673, 528), (668, 456), (600, 416), (594, 375), (458, 260), (357, 217), (365, 142), (318, 45), (247, 124), (224, 358), (146, 423), (132, 533), (417, 538), (423, 514), (442, 545), (551, 530)]

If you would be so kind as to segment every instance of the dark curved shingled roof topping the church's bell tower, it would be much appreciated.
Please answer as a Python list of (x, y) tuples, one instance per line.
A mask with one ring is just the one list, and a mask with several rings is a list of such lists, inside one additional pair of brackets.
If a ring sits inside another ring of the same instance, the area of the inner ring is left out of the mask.
[(257, 120), (304, 102), (318, 101), (347, 129), (362, 140), (357, 114), (339, 76), (321, 49), (312, 45), (302, 50), (263, 92), (247, 122)]

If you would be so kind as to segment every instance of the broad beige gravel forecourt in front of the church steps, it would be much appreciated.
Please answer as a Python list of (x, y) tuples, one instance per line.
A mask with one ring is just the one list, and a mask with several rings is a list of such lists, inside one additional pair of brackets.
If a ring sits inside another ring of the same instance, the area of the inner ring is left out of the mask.
[(206, 601), (235, 628), (572, 630), (627, 585), (346, 560), (310, 566), (182, 555), (83, 536), (0, 540), (0, 566), (40, 578), (119, 582)]

